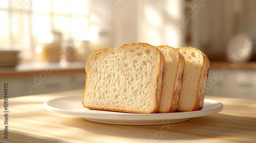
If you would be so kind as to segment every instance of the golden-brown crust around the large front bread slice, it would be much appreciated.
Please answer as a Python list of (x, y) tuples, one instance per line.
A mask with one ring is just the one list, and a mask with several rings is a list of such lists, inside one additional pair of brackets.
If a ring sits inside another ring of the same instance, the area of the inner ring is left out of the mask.
[(162, 54), (161, 51), (159, 51), (155, 46), (153, 45), (150, 45), (150, 44), (147, 44), (147, 43), (130, 43), (130, 44), (124, 44), (124, 45), (121, 45), (121, 46), (118, 46), (116, 47), (115, 49), (111, 49), (111, 48), (106, 48), (106, 49), (100, 49), (100, 50), (97, 50), (95, 52), (93, 52), (88, 59), (92, 58), (95, 54), (97, 54), (98, 52), (101, 52), (101, 51), (105, 51), (105, 50), (118, 50), (118, 49), (121, 49), (121, 48), (124, 48), (124, 47), (129, 47), (129, 46), (135, 46), (135, 45), (139, 45), (139, 46), (144, 46), (144, 47), (151, 47), (153, 50), (155, 50), (157, 53), (159, 53), (159, 57), (158, 57), (158, 75), (156, 77), (156, 85), (155, 85), (155, 109), (153, 109), (152, 111), (149, 111), (149, 112), (142, 112), (142, 111), (136, 111), (136, 110), (127, 110), (127, 109), (114, 109), (114, 108), (95, 108), (95, 107), (90, 107), (90, 106), (87, 106), (87, 105), (84, 105), (84, 100), (86, 98), (85, 96), (85, 93), (87, 91), (87, 87), (88, 87), (88, 70), (87, 70), (87, 65), (88, 65), (88, 62), (89, 60), (87, 60), (86, 62), (86, 86), (84, 88), (84, 93), (83, 93), (83, 99), (82, 99), (82, 103), (83, 103), (83, 107), (86, 107), (86, 108), (89, 108), (89, 109), (97, 109), (97, 110), (111, 110), (111, 111), (118, 111), (118, 112), (130, 112), (130, 113), (156, 113), (158, 111), (158, 108), (159, 108), (159, 99), (160, 99), (160, 93), (159, 93), (159, 90), (161, 92), (161, 88), (159, 89), (159, 87), (161, 87), (161, 84), (162, 84), (162, 72), (163, 72), (163, 68), (164, 68), (164, 63), (165, 63), (165, 59), (164, 59), (164, 56)]

